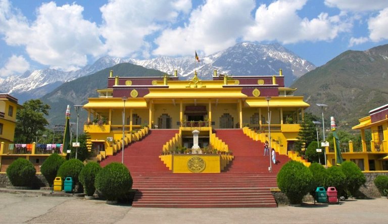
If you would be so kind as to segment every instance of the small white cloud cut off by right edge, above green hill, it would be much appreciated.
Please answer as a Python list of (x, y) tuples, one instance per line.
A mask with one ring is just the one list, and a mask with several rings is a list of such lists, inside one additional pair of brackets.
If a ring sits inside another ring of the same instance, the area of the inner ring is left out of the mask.
[(368, 21), (369, 38), (372, 41), (388, 39), (388, 8), (381, 10), (376, 17)]

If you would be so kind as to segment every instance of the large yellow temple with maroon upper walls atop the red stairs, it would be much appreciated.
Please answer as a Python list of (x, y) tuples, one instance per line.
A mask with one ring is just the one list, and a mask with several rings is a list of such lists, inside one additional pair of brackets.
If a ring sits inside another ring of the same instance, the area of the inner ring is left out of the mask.
[(123, 125), (125, 145), (149, 129), (179, 130), (163, 147), (165, 152), (176, 146), (191, 148), (194, 129), (200, 131), (200, 148), (211, 145), (224, 151), (227, 146), (217, 142), (213, 129), (249, 127), (244, 133), (263, 142), (270, 129), (271, 146), (285, 155), (297, 140), (309, 106), (302, 96), (294, 96), (295, 90), (284, 87), (281, 70), (273, 76), (226, 76), (215, 70), (213, 80), (200, 80), (195, 73), (190, 81), (179, 80), (176, 71), (164, 77), (115, 77), (111, 71), (107, 88), (83, 106), (88, 111), (84, 131), (99, 159), (122, 148)]

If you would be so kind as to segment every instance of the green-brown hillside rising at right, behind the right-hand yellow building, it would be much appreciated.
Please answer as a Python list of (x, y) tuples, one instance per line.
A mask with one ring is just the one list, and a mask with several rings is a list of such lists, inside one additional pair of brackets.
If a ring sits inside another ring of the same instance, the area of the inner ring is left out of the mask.
[[(307, 111), (321, 116), (316, 103), (327, 104), (324, 113), (337, 125), (350, 129), (368, 111), (388, 103), (388, 44), (366, 51), (348, 50), (306, 73), (292, 87), (310, 103)], [(326, 122), (325, 122), (326, 123)]]

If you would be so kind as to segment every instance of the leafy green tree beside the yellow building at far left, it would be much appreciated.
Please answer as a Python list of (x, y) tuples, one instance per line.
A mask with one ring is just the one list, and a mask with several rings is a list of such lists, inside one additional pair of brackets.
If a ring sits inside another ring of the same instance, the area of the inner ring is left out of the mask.
[(15, 142), (29, 143), (34, 141), (36, 132), (43, 132), (49, 124), (44, 118), (49, 115), (50, 106), (40, 99), (30, 99), (23, 103), (23, 108), (16, 113)]

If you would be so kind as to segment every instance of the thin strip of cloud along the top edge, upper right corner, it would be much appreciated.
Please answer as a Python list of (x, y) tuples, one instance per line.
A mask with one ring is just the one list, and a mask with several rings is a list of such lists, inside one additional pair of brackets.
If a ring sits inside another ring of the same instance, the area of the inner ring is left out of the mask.
[(325, 5), (344, 11), (363, 12), (382, 10), (388, 7), (386, 0), (325, 0)]

